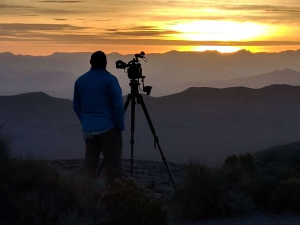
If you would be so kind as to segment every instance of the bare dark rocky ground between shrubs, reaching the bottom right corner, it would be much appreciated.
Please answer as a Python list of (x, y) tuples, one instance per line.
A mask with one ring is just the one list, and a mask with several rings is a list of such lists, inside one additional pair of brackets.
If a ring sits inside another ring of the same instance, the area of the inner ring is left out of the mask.
[[(80, 174), (83, 166), (82, 159), (73, 160), (48, 160), (60, 174), (74, 176)], [(169, 163), (170, 170), (174, 176), (175, 183), (180, 186), (184, 176), (184, 166), (176, 163)], [(162, 196), (164, 202), (174, 209), (171, 196), (174, 191), (172, 182), (163, 162), (136, 160), (134, 162), (134, 178), (143, 186), (154, 193)], [(123, 176), (130, 177), (130, 160), (123, 160)], [(104, 174), (100, 174), (98, 179), (100, 187), (104, 187)], [(170, 217), (170, 225), (300, 225), (300, 215), (292, 214), (272, 214), (253, 210), (248, 215), (233, 218), (215, 218), (200, 222), (178, 222)]]

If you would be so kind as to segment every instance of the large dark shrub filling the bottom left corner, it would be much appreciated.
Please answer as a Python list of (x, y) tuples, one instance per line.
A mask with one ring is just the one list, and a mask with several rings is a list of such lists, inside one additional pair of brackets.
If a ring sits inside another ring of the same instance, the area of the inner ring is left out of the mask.
[(105, 219), (99, 190), (63, 179), (43, 162), (11, 160), (2, 175), (0, 224), (93, 225)]

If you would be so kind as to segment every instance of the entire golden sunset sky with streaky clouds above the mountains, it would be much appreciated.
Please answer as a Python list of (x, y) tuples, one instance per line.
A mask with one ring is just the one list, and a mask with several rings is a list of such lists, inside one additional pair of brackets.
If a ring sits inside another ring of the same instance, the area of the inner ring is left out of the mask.
[(300, 49), (300, 0), (0, 0), (0, 52)]

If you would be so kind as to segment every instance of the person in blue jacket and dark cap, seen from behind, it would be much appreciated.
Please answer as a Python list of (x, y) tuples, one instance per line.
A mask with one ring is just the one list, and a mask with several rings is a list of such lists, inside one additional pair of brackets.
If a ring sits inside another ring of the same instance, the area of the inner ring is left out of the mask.
[(106, 71), (106, 55), (91, 55), (91, 69), (75, 81), (73, 108), (85, 140), (84, 168), (96, 180), (102, 152), (107, 183), (122, 176), (124, 105), (118, 79)]

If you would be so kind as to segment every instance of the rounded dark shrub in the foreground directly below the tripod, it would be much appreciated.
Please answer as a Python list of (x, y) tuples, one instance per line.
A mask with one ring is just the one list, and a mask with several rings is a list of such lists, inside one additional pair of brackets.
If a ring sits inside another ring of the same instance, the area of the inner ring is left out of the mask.
[(152, 197), (134, 179), (118, 180), (104, 193), (102, 202), (113, 225), (165, 225), (167, 210), (159, 198)]

